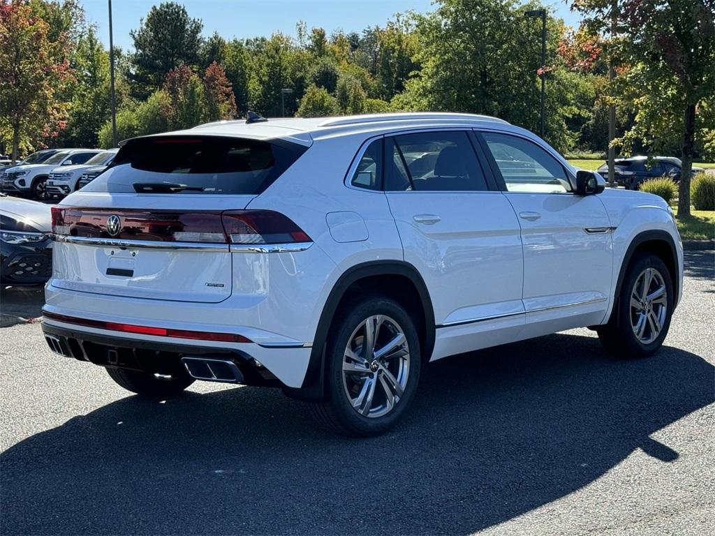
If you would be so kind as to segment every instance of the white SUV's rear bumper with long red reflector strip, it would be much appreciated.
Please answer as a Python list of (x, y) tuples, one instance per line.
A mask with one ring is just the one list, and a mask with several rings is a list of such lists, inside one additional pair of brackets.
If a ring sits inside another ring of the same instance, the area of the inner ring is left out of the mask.
[(300, 387), (310, 347), (265, 347), (256, 343), (198, 341), (116, 332), (46, 318), (42, 331), (51, 350), (102, 367), (171, 374), (185, 356), (232, 359), (247, 384)]

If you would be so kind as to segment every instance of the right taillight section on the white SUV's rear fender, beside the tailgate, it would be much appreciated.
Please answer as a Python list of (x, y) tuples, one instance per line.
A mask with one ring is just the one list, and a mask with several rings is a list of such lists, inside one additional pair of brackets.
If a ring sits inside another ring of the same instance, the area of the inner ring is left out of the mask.
[(227, 210), (224, 229), (233, 244), (291, 244), (310, 237), (289, 217), (272, 210)]

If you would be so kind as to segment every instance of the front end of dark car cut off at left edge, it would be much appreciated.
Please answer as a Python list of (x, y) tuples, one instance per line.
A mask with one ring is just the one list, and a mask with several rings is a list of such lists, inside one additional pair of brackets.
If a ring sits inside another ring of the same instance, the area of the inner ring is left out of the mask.
[(0, 194), (0, 281), (43, 284), (52, 275), (52, 217), (43, 203)]

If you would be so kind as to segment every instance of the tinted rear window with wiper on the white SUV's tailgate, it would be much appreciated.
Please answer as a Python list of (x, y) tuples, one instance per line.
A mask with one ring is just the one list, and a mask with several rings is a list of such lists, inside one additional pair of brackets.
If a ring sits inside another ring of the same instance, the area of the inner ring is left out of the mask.
[(307, 147), (227, 137), (137, 138), (85, 189), (109, 192), (256, 195)]

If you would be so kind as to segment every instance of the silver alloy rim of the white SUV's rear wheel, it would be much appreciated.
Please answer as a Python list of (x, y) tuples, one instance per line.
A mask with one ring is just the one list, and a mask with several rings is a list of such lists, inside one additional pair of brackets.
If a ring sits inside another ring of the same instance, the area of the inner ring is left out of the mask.
[(383, 417), (400, 402), (410, 374), (410, 348), (400, 324), (384, 314), (360, 322), (342, 358), (342, 386), (352, 409)]

